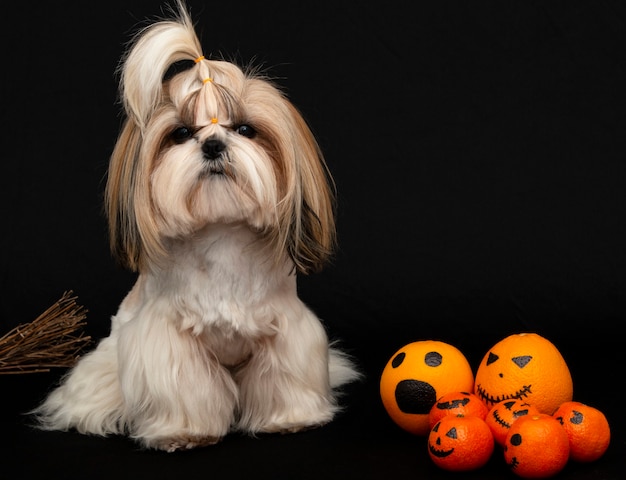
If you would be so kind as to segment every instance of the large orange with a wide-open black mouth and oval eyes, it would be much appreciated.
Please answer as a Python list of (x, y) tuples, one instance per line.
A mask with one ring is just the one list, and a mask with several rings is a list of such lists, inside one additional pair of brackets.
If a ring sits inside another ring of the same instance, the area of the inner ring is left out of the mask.
[(407, 432), (428, 435), (429, 413), (448, 392), (471, 392), (474, 373), (461, 351), (438, 340), (400, 348), (380, 377), (380, 397), (391, 419)]

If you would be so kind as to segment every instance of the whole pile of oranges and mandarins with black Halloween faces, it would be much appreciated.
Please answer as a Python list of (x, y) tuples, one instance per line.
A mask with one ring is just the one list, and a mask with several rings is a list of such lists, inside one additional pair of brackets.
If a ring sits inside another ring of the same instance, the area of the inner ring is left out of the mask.
[(536, 333), (510, 335), (483, 357), (476, 377), (445, 342), (405, 345), (385, 366), (380, 395), (391, 419), (427, 437), (428, 455), (449, 471), (475, 470), (499, 450), (522, 478), (548, 478), (568, 461), (608, 449), (603, 412), (573, 400), (563, 356)]

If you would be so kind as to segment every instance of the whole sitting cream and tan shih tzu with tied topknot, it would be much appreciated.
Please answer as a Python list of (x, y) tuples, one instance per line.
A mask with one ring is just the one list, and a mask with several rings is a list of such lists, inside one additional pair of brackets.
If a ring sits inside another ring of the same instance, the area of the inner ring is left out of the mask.
[(359, 373), (297, 295), (296, 274), (335, 246), (334, 187), (307, 124), (258, 71), (205, 58), (182, 1), (137, 34), (119, 73), (106, 211), (138, 278), (38, 425), (175, 451), (329, 422)]

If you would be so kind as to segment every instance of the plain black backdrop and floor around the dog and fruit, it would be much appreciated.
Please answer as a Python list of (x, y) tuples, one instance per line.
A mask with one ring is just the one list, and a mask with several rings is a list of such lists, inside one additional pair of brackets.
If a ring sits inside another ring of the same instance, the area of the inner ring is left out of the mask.
[[(366, 380), (322, 429), (166, 455), (31, 430), (21, 412), (63, 372), (0, 376), (10, 447), (0, 478), (448, 478), (382, 409), (384, 365), (404, 344), (437, 339), (476, 368), (522, 331), (561, 350), (575, 399), (613, 427), (601, 460), (559, 476), (621, 477), (623, 2), (189, 5), (206, 55), (268, 67), (318, 137), (339, 192), (340, 249), (300, 292)], [(114, 70), (161, 6), (3, 4), (0, 334), (73, 290), (101, 338), (132, 286), (102, 214), (122, 120)], [(499, 455), (462, 474), (507, 476)]]

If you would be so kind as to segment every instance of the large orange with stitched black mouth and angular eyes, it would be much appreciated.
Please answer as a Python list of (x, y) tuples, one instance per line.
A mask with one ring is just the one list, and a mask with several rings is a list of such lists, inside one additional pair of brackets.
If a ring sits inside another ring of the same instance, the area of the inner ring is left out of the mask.
[(474, 393), (489, 408), (519, 399), (552, 415), (572, 400), (574, 384), (556, 346), (536, 333), (510, 335), (496, 343), (476, 371)]

